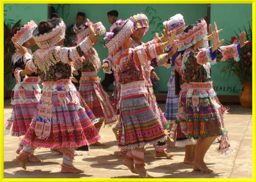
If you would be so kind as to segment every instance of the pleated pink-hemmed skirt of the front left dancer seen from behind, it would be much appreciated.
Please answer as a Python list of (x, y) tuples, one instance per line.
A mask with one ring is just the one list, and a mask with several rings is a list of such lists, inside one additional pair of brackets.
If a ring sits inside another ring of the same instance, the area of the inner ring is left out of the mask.
[[(40, 110), (43, 104), (51, 106), (51, 113)], [(40, 105), (22, 141), (34, 147), (44, 148), (80, 147), (93, 144), (101, 138), (94, 127), (96, 120), (70, 80), (47, 81), (43, 85)], [(50, 123), (48, 137), (36, 134), (37, 122)]]

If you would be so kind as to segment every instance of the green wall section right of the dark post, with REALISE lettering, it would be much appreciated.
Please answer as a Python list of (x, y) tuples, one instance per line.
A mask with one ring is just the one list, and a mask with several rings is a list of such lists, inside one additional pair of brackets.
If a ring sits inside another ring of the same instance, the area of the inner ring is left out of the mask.
[[(216, 22), (220, 32), (220, 39), (230, 41), (231, 37), (236, 36), (235, 32), (244, 30), (243, 26), (249, 29), (252, 26), (252, 5), (251, 4), (211, 4), (211, 24)], [(253, 31), (254, 32), (254, 31)], [(222, 44), (224, 45), (224, 44)], [(212, 66), (212, 80), (217, 94), (237, 95), (242, 90), (236, 75), (232, 77), (224, 76), (220, 71), (226, 63), (218, 63)]]

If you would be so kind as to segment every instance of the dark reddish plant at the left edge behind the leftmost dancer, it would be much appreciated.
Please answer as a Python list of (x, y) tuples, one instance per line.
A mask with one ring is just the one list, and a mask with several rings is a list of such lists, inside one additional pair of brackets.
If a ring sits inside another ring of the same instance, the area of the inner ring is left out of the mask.
[(13, 26), (4, 23), (4, 97), (7, 98), (11, 97), (8, 87), (10, 85), (10, 77), (12, 76), (12, 56), (15, 53), (15, 47), (11, 38), (16, 27), (20, 27), (20, 20)]

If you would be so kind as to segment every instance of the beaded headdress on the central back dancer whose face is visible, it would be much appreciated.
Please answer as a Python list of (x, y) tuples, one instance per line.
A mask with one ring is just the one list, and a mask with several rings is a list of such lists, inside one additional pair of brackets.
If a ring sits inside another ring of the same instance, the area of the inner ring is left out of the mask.
[(134, 24), (134, 31), (138, 28), (145, 28), (146, 31), (148, 31), (149, 23), (148, 23), (148, 17), (145, 14), (136, 14), (130, 17), (130, 20)]

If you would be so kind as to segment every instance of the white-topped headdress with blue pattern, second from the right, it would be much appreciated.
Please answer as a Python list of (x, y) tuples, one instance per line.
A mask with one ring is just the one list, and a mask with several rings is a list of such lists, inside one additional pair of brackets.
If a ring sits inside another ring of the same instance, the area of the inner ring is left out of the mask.
[(185, 27), (185, 21), (182, 14), (175, 14), (171, 18), (162, 23), (164, 26), (168, 25), (168, 31), (176, 30), (180, 31)]

